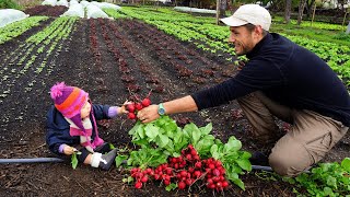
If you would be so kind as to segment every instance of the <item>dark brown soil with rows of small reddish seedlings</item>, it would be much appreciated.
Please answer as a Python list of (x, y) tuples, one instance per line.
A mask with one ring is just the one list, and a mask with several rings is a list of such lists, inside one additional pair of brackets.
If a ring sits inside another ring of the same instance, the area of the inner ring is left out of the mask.
[[(20, 57), (26, 53), (21, 45), (54, 20), (50, 18), (40, 26), (0, 45), (1, 67), (9, 65), (18, 69), (27, 63), (28, 59), (20, 63)], [(95, 104), (120, 105), (130, 95), (144, 97), (150, 90), (153, 103), (177, 99), (220, 83), (235, 72), (224, 56), (196, 49), (189, 43), (136, 20), (79, 20), (69, 38), (59, 44), (62, 49), (54, 50), (55, 56), (46, 60), (49, 66), (39, 74), (35, 68), (19, 78), (11, 77), (11, 69), (2, 72), (0, 90), (11, 90), (11, 94), (0, 99), (0, 155), (3, 159), (55, 157), (45, 143), (45, 120), (52, 104), (49, 89), (56, 82), (82, 88)], [(40, 65), (44, 58), (38, 55), (33, 67)], [(10, 80), (4, 80), (4, 74)], [(31, 81), (35, 83), (28, 85)], [(12, 85), (9, 86), (9, 82)], [(213, 135), (222, 141), (233, 135), (242, 141), (243, 150), (262, 149), (249, 138), (252, 127), (235, 102), (172, 117), (189, 119), (197, 126), (212, 123)], [(128, 131), (133, 124), (126, 116), (119, 116), (100, 123), (100, 135), (118, 148), (130, 147)], [(288, 131), (282, 123), (278, 124), (282, 134)], [(350, 157), (349, 146), (348, 134), (324, 161), (339, 162)], [(166, 192), (156, 182), (136, 189), (133, 185), (122, 183), (127, 172), (115, 166), (106, 172), (81, 164), (73, 170), (70, 161), (0, 165), (0, 196), (295, 196), (293, 185), (267, 182), (257, 176), (259, 171), (241, 175), (246, 190), (232, 185), (224, 193), (212, 193), (197, 186), (190, 190)]]

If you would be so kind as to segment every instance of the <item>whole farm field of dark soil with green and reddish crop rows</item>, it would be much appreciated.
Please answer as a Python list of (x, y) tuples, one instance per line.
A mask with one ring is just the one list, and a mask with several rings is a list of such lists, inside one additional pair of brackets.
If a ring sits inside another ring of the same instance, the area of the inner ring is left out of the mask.
[[(171, 19), (162, 15), (172, 14), (170, 10), (128, 8), (120, 12), (106, 10), (115, 20), (88, 20), (57, 18), (63, 9), (56, 10), (55, 14), (45, 9), (51, 8), (28, 10), (37, 15), (30, 18), (33, 25), (15, 37), (0, 39), (2, 158), (55, 157), (45, 144), (45, 117), (52, 104), (49, 89), (58, 81), (82, 88), (93, 103), (120, 105), (133, 94), (144, 97), (151, 90), (153, 103), (176, 99), (220, 83), (236, 72), (234, 51), (225, 43), (228, 28), (214, 28), (210, 18), (178, 13), (178, 18)], [(185, 18), (188, 20), (180, 21)], [(200, 28), (201, 25), (206, 27)], [(215, 30), (225, 33), (214, 34)], [(293, 36), (295, 42), (305, 42)], [(349, 88), (349, 45), (318, 44), (310, 42), (305, 46), (314, 47), (315, 53), (327, 51), (323, 58)], [(212, 123), (215, 138), (228, 141), (230, 136), (235, 136), (243, 150), (259, 150), (248, 137), (252, 128), (235, 102), (172, 118), (179, 126), (191, 121), (203, 127)], [(126, 116), (117, 117), (100, 123), (100, 134), (115, 147), (132, 148), (128, 131), (133, 125), (135, 121)], [(282, 135), (288, 131), (288, 125), (280, 125)], [(328, 153), (325, 162), (340, 162), (350, 157), (349, 135)], [(126, 173), (122, 169), (112, 167), (104, 172), (83, 165), (72, 170), (69, 162), (1, 164), (0, 196), (213, 196), (211, 190), (197, 187), (166, 192), (155, 182), (136, 189), (133, 184), (122, 183)], [(232, 185), (214, 195), (295, 196), (293, 185), (267, 181), (269, 175), (260, 171), (240, 177), (245, 190)]]

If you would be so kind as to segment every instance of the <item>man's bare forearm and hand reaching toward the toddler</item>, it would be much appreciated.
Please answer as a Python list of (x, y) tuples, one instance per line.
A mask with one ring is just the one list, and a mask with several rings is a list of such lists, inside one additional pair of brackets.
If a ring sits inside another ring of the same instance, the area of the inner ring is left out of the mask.
[[(197, 104), (190, 95), (165, 102), (163, 106), (166, 115), (198, 111)], [(142, 123), (150, 123), (160, 117), (158, 109), (159, 105), (150, 105), (138, 112), (138, 118), (142, 120)]]

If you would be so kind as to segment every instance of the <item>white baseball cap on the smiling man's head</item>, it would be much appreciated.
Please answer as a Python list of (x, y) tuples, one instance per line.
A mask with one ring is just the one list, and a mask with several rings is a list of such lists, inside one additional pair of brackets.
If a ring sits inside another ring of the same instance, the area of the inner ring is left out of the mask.
[(260, 25), (269, 31), (271, 25), (271, 15), (269, 11), (258, 4), (244, 4), (240, 7), (230, 18), (221, 19), (229, 26), (242, 26), (245, 24)]

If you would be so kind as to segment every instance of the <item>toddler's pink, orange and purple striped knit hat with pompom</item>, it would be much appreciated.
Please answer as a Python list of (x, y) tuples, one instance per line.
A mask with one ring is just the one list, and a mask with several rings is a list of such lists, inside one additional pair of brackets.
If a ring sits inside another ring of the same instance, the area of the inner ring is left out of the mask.
[(77, 88), (68, 86), (65, 82), (56, 83), (50, 90), (55, 107), (66, 117), (71, 119), (79, 128), (85, 130), (81, 120), (81, 108), (89, 100), (89, 94)]

